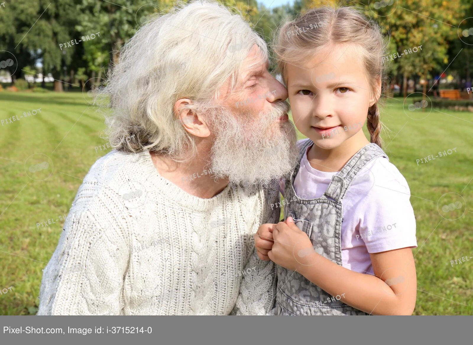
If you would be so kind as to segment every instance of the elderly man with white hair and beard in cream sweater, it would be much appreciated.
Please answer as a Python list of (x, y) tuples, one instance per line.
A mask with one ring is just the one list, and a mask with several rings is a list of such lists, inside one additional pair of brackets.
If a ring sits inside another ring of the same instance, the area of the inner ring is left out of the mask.
[(263, 40), (215, 2), (140, 27), (101, 90), (115, 150), (79, 188), (37, 315), (274, 312), (253, 236), (278, 221), (296, 133), (267, 68)]

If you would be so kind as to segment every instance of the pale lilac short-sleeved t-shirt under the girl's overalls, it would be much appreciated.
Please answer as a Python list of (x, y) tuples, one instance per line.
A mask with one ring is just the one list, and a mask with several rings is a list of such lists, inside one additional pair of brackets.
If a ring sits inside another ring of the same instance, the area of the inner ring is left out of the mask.
[[(294, 190), (299, 197), (312, 199), (325, 193), (337, 172), (312, 168), (307, 150), (294, 180)], [(280, 181), (280, 191), (284, 195), (284, 179)], [(342, 199), (343, 267), (374, 274), (369, 253), (417, 247), (410, 197), (405, 178), (384, 157), (373, 159), (359, 171)]]

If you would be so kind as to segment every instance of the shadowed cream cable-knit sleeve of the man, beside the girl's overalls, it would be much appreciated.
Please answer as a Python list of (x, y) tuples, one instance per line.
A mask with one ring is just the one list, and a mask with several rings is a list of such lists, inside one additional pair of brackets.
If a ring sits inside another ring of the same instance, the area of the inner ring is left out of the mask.
[[(271, 207), (271, 204), (275, 205), (279, 200), (279, 186), (276, 183), (273, 188), (265, 191), (262, 224), (278, 222), (280, 208)], [(254, 233), (259, 225), (261, 224), (257, 225)], [(240, 292), (230, 315), (276, 315), (276, 264), (258, 257), (254, 236), (251, 237), (250, 248), (253, 251), (245, 265)]]

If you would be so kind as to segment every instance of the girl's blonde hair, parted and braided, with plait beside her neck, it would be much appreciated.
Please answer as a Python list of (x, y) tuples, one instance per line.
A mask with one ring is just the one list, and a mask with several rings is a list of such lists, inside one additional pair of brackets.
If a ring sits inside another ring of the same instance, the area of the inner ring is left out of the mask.
[[(330, 44), (354, 44), (368, 73), (371, 92), (377, 93), (377, 81), (384, 85), (385, 69), (382, 57), (386, 44), (380, 27), (353, 7), (320, 7), (310, 9), (299, 18), (286, 22), (279, 32), (274, 52), (278, 67), (287, 85), (287, 64), (300, 64)], [(358, 55), (358, 54), (357, 54)], [(382, 94), (382, 90), (381, 90)], [(379, 95), (381, 97), (381, 95)], [(378, 101), (368, 108), (367, 127), (370, 141), (382, 146), (382, 124)]]

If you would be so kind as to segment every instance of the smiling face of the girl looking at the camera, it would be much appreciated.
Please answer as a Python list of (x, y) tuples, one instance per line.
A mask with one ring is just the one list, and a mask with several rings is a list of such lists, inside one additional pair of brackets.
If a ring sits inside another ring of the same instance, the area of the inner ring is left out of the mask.
[(334, 44), (310, 61), (287, 65), (294, 124), (322, 149), (359, 133), (377, 100), (357, 53), (351, 44)]

